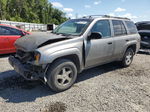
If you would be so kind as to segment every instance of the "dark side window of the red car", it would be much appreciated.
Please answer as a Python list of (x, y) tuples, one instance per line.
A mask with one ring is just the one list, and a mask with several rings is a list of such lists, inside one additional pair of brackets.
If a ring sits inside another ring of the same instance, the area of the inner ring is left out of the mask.
[(6, 26), (0, 26), (0, 35), (22, 35), (22, 31)]

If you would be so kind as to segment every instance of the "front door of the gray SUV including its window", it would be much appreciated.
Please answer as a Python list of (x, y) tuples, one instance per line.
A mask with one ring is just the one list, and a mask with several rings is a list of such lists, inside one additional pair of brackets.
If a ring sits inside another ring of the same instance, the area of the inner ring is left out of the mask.
[(87, 40), (85, 44), (85, 67), (104, 64), (113, 60), (114, 42), (111, 37), (110, 22), (100, 20), (95, 23), (91, 32), (99, 32), (102, 38)]

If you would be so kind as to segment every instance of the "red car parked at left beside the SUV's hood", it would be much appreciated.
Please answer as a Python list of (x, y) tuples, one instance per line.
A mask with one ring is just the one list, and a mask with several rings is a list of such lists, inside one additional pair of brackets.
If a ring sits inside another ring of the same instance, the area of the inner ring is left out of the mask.
[(30, 33), (17, 27), (0, 24), (0, 54), (16, 52), (14, 42), (26, 34)]

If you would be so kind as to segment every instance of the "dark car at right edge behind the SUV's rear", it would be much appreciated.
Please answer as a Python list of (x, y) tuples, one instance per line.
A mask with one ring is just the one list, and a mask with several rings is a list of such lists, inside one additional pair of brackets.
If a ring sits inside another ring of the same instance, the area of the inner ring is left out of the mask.
[(141, 49), (150, 49), (150, 21), (136, 23), (141, 36)]

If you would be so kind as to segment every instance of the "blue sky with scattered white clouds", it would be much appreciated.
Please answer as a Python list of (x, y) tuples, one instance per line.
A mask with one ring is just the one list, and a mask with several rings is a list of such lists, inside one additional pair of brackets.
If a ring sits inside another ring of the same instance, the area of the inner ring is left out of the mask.
[(49, 2), (70, 18), (110, 15), (127, 17), (134, 22), (150, 21), (150, 0), (49, 0)]

